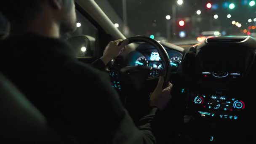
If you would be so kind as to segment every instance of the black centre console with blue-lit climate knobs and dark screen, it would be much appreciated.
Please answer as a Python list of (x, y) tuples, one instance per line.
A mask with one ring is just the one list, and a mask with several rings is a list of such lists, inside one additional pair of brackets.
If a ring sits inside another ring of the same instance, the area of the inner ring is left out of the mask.
[(184, 55), (182, 71), (188, 83), (186, 117), (190, 117), (184, 136), (188, 142), (253, 140), (248, 130), (254, 123), (253, 43), (256, 41), (251, 37), (213, 38)]

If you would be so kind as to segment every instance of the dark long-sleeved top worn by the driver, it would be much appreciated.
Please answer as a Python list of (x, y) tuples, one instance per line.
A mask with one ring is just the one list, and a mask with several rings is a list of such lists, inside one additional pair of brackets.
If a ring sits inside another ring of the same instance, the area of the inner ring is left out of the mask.
[[(136, 127), (109, 76), (75, 58), (59, 39), (27, 34), (0, 42), (0, 71), (57, 131), (88, 144), (154, 144), (157, 108)], [(100, 60), (95, 67), (104, 67)]]

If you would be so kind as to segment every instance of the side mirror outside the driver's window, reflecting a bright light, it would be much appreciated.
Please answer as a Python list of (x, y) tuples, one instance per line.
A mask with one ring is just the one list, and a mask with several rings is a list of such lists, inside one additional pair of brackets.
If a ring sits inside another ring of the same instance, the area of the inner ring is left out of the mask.
[(95, 38), (89, 35), (70, 37), (67, 43), (74, 49), (75, 56), (93, 56), (95, 51)]

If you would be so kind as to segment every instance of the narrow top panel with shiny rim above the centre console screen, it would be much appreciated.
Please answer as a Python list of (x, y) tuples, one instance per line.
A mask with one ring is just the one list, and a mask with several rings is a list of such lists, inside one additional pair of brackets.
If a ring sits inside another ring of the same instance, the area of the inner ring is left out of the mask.
[(242, 43), (249, 39), (249, 36), (226, 36), (211, 37), (205, 40), (205, 43)]

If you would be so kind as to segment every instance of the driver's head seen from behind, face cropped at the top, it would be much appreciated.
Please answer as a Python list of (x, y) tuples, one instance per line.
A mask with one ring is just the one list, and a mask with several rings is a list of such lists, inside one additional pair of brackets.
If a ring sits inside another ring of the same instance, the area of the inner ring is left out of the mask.
[(61, 32), (76, 28), (74, 0), (1, 0), (0, 8), (11, 22), (11, 30), (29, 31), (51, 24), (57, 25)]

